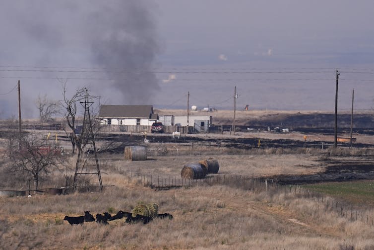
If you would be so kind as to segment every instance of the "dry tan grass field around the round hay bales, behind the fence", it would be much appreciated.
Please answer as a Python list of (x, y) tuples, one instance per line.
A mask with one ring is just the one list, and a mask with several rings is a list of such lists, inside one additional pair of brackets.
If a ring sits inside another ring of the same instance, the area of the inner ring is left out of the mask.
[(177, 155), (149, 157), (147, 161), (138, 162), (124, 161), (120, 155), (111, 158), (113, 164), (124, 171), (179, 178), (184, 165), (207, 158), (218, 160), (220, 174), (241, 174), (254, 178), (278, 174), (313, 174), (323, 170), (323, 166), (316, 162), (318, 157), (305, 155)]

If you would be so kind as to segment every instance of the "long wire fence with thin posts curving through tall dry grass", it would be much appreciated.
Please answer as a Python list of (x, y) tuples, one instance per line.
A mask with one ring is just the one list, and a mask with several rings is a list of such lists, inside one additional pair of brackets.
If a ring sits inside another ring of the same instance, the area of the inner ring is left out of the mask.
[(305, 188), (303, 185), (281, 185), (272, 179), (253, 178), (248, 175), (227, 173), (210, 174), (205, 178), (198, 179), (184, 179), (175, 176), (162, 176), (129, 171), (116, 165), (112, 165), (112, 167), (129, 179), (135, 180), (143, 186), (155, 189), (189, 188), (204, 185), (228, 185), (251, 190), (253, 192), (264, 191), (273, 192), (275, 194), (296, 195), (298, 198), (310, 199), (317, 203), (321, 203), (323, 204), (322, 208), (325, 211), (334, 211), (340, 217), (346, 218), (349, 221), (361, 221), (374, 227), (374, 216), (370, 212), (364, 212), (353, 204), (338, 201), (321, 192)]

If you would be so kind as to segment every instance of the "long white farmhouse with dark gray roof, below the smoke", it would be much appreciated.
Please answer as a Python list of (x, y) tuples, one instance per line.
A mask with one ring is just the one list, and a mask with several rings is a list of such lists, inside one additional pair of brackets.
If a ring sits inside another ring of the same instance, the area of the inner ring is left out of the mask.
[(101, 105), (98, 118), (103, 125), (151, 126), (158, 114), (152, 105)]

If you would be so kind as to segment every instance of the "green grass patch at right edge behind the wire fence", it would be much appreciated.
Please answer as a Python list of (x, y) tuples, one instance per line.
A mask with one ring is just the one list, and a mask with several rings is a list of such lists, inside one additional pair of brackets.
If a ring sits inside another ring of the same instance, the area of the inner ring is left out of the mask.
[(358, 205), (374, 205), (372, 180), (318, 183), (305, 187)]

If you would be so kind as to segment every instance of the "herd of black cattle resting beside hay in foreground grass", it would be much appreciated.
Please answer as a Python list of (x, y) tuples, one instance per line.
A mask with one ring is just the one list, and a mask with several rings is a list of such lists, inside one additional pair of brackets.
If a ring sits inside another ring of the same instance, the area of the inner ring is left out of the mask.
[[(109, 224), (108, 221), (114, 221), (117, 219), (122, 219), (126, 217), (125, 222), (126, 223), (138, 223), (141, 222), (143, 224), (148, 224), (153, 220), (153, 218), (148, 217), (148, 216), (143, 216), (140, 214), (135, 215), (134, 217), (132, 216), (132, 213), (129, 212), (124, 212), (124, 211), (118, 211), (118, 213), (114, 216), (112, 216), (108, 212), (104, 212), (104, 214), (96, 214), (96, 223), (101, 223), (104, 225)], [(157, 214), (156, 218), (159, 219), (173, 219), (173, 215), (164, 213), (164, 214)], [(84, 211), (84, 216), (65, 216), (63, 218), (64, 221), (67, 221), (70, 225), (78, 225), (78, 224), (83, 224), (83, 222), (92, 222), (95, 221), (95, 218), (93, 217), (92, 214), (90, 214), (90, 211)]]

